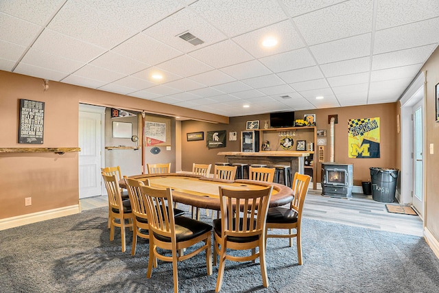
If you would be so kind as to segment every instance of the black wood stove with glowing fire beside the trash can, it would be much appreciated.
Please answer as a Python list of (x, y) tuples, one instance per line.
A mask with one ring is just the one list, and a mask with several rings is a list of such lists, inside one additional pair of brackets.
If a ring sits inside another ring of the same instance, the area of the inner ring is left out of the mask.
[(352, 164), (322, 163), (322, 196), (352, 198), (353, 173)]

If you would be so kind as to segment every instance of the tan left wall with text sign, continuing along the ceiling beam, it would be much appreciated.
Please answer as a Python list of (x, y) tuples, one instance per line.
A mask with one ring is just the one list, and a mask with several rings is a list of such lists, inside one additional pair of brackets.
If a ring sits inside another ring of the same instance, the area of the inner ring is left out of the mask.
[[(43, 145), (18, 143), (19, 99), (45, 102)], [(40, 78), (0, 71), (0, 148), (77, 148), (80, 102), (228, 123), (228, 117), (60, 82), (49, 81), (49, 91), (44, 92)], [(175, 127), (171, 137), (175, 145)], [(169, 152), (173, 158), (174, 152), (173, 147)], [(25, 207), (26, 197), (32, 197), (31, 206)], [(78, 200), (77, 152), (0, 154), (0, 219), (68, 207)]]

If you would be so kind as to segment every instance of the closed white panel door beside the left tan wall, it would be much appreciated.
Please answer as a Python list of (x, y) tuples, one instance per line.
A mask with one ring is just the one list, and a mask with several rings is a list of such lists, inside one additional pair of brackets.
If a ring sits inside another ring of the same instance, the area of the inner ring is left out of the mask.
[[(93, 112), (95, 111), (95, 112)], [(80, 198), (102, 195), (102, 107), (80, 105), (79, 181)]]

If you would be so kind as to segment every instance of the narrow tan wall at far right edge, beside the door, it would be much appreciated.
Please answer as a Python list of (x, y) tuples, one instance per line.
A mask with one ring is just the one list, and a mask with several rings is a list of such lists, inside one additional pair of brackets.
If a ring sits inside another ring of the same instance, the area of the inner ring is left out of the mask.
[[(439, 239), (439, 122), (436, 122), (435, 86), (439, 83), (439, 48), (425, 63), (426, 71), (425, 98), (425, 226), (436, 239)], [(429, 145), (434, 143), (434, 154), (430, 154)], [(439, 240), (438, 240), (439, 241)]]

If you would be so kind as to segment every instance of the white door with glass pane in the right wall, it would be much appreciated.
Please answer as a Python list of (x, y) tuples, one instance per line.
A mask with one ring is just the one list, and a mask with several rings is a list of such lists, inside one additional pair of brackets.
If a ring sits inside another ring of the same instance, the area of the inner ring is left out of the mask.
[(416, 209), (420, 218), (424, 214), (424, 133), (423, 133), (423, 100), (413, 107), (413, 207)]

